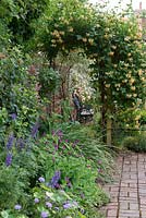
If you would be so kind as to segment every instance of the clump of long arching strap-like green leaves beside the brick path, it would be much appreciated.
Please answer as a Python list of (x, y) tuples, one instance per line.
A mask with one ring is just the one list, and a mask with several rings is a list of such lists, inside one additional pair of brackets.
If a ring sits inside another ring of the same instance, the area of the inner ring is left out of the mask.
[(98, 170), (97, 181), (108, 181), (113, 166), (113, 153), (102, 143), (99, 133), (92, 125), (83, 126), (80, 123), (71, 123), (63, 126), (64, 137), (76, 143), (82, 154), (94, 161)]

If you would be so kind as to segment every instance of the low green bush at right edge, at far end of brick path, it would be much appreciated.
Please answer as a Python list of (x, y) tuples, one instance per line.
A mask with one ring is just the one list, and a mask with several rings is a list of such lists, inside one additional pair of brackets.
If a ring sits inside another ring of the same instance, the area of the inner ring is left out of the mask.
[(146, 153), (146, 135), (145, 132), (136, 136), (127, 136), (123, 140), (122, 146), (136, 153)]

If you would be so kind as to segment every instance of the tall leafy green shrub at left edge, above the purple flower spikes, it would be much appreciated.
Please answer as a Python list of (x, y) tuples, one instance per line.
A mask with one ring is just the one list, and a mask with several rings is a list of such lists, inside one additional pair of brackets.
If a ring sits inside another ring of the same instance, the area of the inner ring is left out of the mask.
[(5, 118), (1, 119), (2, 135), (14, 132), (24, 137), (38, 117), (36, 80), (28, 72), (29, 63), (29, 57), (24, 57), (16, 47), (0, 61), (0, 108), (1, 117)]

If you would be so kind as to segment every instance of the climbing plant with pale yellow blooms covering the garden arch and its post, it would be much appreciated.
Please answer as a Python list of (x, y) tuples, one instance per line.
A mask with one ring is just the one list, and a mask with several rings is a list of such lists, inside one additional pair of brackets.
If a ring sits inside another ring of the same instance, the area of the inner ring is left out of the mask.
[(125, 20), (80, 0), (54, 0), (37, 21), (35, 40), (50, 63), (59, 51), (66, 55), (78, 48), (93, 60), (90, 76), (100, 92), (102, 128), (110, 130), (113, 113), (144, 98), (145, 56), (135, 19)]

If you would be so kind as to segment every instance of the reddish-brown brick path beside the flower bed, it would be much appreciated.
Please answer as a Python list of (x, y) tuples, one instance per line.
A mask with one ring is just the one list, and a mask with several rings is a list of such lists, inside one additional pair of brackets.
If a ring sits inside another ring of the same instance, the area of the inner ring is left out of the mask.
[(117, 167), (114, 182), (104, 187), (110, 195), (106, 218), (146, 218), (146, 155), (122, 155)]

